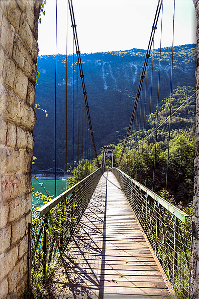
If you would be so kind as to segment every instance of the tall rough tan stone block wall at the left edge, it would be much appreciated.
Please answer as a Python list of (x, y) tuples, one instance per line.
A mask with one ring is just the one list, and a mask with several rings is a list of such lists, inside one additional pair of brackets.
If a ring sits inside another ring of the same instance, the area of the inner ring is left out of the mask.
[(0, 298), (27, 285), (38, 16), (42, 0), (0, 0)]

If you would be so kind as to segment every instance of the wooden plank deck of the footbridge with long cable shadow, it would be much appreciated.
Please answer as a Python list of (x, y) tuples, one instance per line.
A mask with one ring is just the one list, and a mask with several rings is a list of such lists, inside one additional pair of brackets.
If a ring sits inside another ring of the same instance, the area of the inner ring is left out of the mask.
[(60, 299), (171, 298), (112, 173), (99, 181), (54, 283)]

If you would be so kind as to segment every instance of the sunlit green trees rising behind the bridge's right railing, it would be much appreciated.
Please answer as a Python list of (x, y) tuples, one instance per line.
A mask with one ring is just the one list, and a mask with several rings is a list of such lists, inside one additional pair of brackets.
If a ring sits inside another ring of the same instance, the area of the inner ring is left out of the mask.
[[(159, 141), (156, 146), (141, 143), (137, 150), (129, 152), (121, 165), (122, 171), (156, 193), (165, 188), (166, 180), (168, 150), (162, 143)], [(186, 134), (175, 131), (169, 147), (167, 190), (178, 203), (192, 201), (193, 161), (194, 139), (189, 140)]]

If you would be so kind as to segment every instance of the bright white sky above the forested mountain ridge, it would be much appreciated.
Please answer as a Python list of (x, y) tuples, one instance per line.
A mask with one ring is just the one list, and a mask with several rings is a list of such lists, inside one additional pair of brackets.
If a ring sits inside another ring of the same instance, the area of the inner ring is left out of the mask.
[[(66, 0), (58, 0), (57, 53), (66, 53)], [(81, 53), (147, 49), (158, 0), (72, 0)], [(172, 45), (174, 0), (164, 0), (162, 47)], [(56, 0), (47, 0), (39, 25), (39, 55), (55, 54)], [(161, 15), (154, 39), (160, 47)], [(196, 43), (192, 0), (175, 0), (174, 46)], [(72, 53), (68, 10), (68, 50)]]

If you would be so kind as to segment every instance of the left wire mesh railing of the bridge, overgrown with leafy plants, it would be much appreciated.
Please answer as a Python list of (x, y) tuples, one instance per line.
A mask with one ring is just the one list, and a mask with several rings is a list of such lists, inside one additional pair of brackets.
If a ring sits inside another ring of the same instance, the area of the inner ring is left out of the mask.
[(105, 172), (99, 168), (33, 214), (31, 288), (37, 293), (51, 276), (75, 231), (94, 189)]

